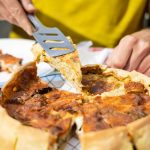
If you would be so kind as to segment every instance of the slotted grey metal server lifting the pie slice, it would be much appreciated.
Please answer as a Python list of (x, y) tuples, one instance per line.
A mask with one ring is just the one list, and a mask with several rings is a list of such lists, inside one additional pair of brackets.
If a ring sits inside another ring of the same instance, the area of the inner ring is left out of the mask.
[(35, 27), (33, 37), (47, 54), (56, 57), (73, 52), (75, 49), (65, 35), (56, 27), (47, 28), (33, 14), (27, 14)]

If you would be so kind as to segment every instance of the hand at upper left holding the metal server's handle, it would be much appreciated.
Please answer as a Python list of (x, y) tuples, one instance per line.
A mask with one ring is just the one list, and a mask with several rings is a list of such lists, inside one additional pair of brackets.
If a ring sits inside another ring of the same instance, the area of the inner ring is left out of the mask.
[(31, 0), (0, 0), (0, 20), (6, 20), (24, 29), (29, 35), (32, 34), (32, 25), (25, 11), (35, 11)]

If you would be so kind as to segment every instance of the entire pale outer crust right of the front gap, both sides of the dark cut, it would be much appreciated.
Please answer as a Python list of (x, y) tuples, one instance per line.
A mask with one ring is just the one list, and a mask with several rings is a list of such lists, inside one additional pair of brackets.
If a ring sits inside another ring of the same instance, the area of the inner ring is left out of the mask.
[(149, 150), (150, 115), (127, 126), (77, 133), (83, 150)]

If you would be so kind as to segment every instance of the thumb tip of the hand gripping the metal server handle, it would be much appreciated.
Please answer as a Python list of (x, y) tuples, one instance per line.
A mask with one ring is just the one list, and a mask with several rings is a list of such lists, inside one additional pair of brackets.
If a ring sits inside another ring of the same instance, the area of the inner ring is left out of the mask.
[(35, 7), (32, 4), (31, 0), (21, 0), (23, 8), (28, 12), (28, 13), (34, 13), (35, 12)]

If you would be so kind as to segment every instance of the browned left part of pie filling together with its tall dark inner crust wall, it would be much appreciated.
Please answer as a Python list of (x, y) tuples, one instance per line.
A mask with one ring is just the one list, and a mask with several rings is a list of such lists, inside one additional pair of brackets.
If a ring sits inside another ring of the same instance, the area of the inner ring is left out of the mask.
[(6, 88), (1, 102), (9, 115), (53, 135), (68, 133), (72, 116), (80, 112), (81, 95), (52, 89), (36, 76), (35, 66), (20, 71)]

